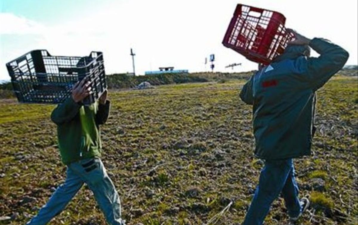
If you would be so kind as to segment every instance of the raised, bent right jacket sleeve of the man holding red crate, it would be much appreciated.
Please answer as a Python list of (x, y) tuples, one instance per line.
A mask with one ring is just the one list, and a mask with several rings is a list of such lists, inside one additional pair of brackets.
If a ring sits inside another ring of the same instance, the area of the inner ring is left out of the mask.
[(318, 58), (312, 57), (307, 60), (308, 82), (316, 91), (342, 69), (349, 54), (342, 47), (324, 39), (314, 38), (309, 45), (320, 54)]

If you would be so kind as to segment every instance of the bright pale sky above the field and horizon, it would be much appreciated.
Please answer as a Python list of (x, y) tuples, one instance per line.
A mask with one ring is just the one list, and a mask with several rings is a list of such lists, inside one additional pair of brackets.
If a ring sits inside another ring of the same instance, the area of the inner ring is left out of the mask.
[[(279, 11), (286, 27), (330, 39), (348, 50), (347, 64), (358, 64), (357, 0), (0, 0), (0, 80), (10, 79), (7, 62), (34, 49), (65, 56), (102, 51), (107, 74), (132, 72), (130, 48), (137, 74), (163, 66), (204, 71), (210, 54), (215, 71), (256, 69), (221, 44), (238, 3)], [(226, 69), (231, 63), (242, 66)]]

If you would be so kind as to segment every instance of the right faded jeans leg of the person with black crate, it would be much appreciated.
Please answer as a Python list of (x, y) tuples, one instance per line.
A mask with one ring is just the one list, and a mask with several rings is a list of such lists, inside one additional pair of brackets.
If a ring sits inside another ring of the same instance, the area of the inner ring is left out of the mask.
[[(91, 164), (91, 162), (93, 163)], [(118, 193), (108, 177), (102, 161), (99, 158), (94, 158), (81, 163), (71, 163), (69, 168), (81, 176), (92, 190), (107, 222), (111, 225), (124, 224), (121, 219), (121, 202)]]

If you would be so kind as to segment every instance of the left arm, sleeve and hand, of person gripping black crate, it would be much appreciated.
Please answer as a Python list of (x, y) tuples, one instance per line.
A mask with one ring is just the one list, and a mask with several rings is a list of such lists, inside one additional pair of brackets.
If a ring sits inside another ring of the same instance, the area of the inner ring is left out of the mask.
[(59, 125), (70, 122), (81, 108), (81, 101), (90, 94), (89, 83), (86, 79), (77, 82), (72, 88), (72, 95), (66, 101), (59, 104), (51, 113), (51, 120)]

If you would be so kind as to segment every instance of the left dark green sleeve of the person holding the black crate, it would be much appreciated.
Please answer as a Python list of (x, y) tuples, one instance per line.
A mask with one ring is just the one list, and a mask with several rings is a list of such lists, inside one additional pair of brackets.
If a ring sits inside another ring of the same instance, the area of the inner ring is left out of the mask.
[(51, 120), (57, 125), (70, 122), (81, 106), (81, 103), (76, 103), (72, 97), (69, 97), (52, 111)]

